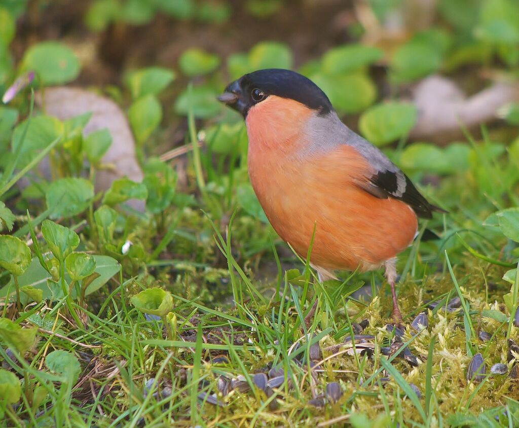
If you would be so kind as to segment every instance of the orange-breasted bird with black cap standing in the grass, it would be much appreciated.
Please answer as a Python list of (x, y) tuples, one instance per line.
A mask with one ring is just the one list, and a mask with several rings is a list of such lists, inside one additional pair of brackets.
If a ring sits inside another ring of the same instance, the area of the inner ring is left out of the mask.
[(310, 263), (321, 280), (336, 270), (385, 267), (393, 318), (401, 321), (396, 257), (416, 237), (417, 217), (445, 211), (344, 125), (325, 93), (301, 74), (258, 70), (218, 99), (245, 119), (250, 180), (279, 236), (304, 258), (312, 244)]

